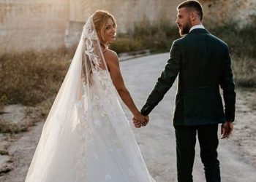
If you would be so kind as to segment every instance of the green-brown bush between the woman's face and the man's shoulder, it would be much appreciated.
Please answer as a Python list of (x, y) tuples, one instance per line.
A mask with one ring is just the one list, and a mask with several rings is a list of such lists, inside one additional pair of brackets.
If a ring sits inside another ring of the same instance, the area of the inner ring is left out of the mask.
[(144, 20), (135, 23), (134, 31), (118, 35), (111, 48), (117, 53), (146, 49), (151, 52), (168, 52), (173, 40), (178, 37), (178, 29), (167, 20), (157, 23)]

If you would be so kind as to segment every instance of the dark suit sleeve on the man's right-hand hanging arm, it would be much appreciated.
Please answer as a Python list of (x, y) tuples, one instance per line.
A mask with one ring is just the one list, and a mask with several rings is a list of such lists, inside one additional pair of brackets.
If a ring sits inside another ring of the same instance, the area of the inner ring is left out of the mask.
[(220, 86), (222, 87), (223, 98), (225, 102), (225, 119), (228, 122), (233, 122), (235, 120), (236, 92), (235, 83), (233, 82), (231, 58), (228, 48), (225, 55), (225, 68), (222, 74)]

